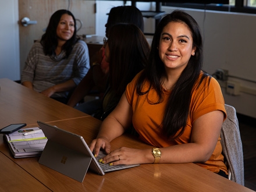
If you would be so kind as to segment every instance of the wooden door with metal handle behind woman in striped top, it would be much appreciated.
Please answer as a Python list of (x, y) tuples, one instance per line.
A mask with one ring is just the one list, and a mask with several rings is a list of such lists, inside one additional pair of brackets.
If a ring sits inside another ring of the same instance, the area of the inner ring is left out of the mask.
[[(82, 23), (78, 35), (95, 34), (95, 1), (81, 0), (19, 0), (19, 20), (28, 17), (37, 24), (24, 27), (19, 24), (20, 37), (20, 71), (29, 54), (34, 40), (39, 40), (44, 34), (51, 15), (59, 9), (67, 9)], [(80, 22), (77, 22), (80, 27)]]

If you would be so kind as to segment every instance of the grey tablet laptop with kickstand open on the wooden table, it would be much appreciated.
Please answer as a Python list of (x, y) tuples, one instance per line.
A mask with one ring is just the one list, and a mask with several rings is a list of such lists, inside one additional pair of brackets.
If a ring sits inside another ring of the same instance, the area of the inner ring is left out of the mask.
[(95, 158), (82, 136), (44, 122), (38, 121), (37, 123), (48, 139), (39, 163), (79, 182), (83, 182), (88, 169), (99, 175), (105, 175), (105, 172), (139, 166), (110, 166), (109, 164), (99, 163), (98, 160), (104, 157), (105, 154), (101, 151), (98, 157)]

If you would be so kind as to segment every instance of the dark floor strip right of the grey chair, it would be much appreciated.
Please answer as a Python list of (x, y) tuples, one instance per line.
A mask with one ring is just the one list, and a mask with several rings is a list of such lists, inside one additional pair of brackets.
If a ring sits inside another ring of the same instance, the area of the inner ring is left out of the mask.
[(244, 154), (244, 186), (256, 191), (256, 119), (237, 114)]

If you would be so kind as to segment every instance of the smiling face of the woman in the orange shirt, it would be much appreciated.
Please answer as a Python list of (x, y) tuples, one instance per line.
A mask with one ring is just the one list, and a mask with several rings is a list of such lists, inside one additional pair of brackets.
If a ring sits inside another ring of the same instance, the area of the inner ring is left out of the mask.
[(182, 73), (194, 52), (193, 38), (186, 24), (170, 22), (163, 28), (159, 40), (159, 56), (166, 69)]

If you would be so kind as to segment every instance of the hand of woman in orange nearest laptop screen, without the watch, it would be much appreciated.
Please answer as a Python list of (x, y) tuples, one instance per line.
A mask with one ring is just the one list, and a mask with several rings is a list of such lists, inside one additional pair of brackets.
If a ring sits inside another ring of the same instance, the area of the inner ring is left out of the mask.
[(94, 151), (94, 157), (97, 157), (101, 148), (105, 150), (106, 154), (110, 153), (111, 145), (106, 137), (98, 137), (91, 141), (89, 145), (91, 152)]

